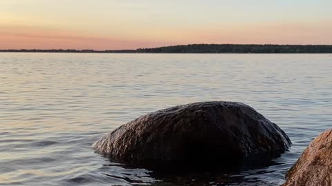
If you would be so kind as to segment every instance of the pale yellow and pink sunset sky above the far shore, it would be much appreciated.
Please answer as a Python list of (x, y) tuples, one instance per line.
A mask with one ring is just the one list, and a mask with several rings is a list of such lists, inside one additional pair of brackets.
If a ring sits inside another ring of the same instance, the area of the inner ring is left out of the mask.
[(331, 0), (0, 0), (0, 49), (332, 45)]

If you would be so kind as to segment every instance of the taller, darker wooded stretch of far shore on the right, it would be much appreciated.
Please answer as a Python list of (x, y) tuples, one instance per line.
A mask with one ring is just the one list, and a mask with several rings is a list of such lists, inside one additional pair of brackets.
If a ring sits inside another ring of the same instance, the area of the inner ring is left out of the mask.
[(332, 45), (194, 44), (140, 48), (139, 53), (332, 53)]

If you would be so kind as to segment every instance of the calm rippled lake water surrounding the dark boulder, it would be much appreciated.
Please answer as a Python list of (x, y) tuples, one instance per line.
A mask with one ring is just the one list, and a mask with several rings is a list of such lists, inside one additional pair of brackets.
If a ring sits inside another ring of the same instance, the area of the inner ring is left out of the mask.
[[(280, 185), (332, 127), (331, 72), (331, 54), (0, 53), (0, 185)], [(293, 146), (232, 174), (162, 174), (91, 148), (142, 114), (196, 101), (251, 105)]]

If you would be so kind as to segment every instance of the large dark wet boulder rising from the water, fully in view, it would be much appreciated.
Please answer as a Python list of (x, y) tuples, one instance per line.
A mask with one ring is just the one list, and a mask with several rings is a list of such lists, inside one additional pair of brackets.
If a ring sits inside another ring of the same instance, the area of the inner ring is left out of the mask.
[(270, 160), (289, 145), (288, 136), (252, 107), (215, 101), (141, 116), (93, 147), (112, 161), (131, 165), (229, 168)]

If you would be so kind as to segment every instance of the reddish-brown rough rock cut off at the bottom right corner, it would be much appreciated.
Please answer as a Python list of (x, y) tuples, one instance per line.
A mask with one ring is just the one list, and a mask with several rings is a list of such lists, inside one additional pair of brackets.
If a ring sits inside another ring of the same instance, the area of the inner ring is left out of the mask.
[(315, 138), (286, 174), (284, 186), (332, 185), (332, 130)]

